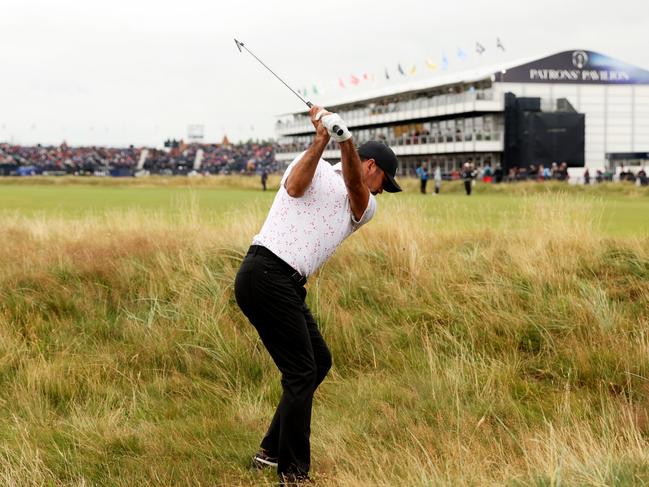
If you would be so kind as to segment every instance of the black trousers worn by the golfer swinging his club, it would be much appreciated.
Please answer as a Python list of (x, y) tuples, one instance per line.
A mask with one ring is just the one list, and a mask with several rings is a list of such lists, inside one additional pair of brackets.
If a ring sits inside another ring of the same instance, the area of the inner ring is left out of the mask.
[(261, 447), (279, 474), (306, 475), (311, 463), (313, 394), (331, 368), (327, 348), (288, 264), (251, 247), (235, 279), (241, 311), (282, 373), (282, 397)]

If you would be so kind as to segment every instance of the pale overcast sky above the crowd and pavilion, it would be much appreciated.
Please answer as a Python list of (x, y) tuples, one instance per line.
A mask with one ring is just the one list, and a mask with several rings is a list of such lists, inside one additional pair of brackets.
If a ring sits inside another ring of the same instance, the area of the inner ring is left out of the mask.
[(158, 146), (188, 124), (208, 142), (273, 137), (302, 105), (234, 37), (326, 103), (386, 68), (395, 86), (434, 79), (443, 54), (463, 70), (579, 48), (649, 69), (648, 27), (646, 0), (0, 0), (0, 142)]

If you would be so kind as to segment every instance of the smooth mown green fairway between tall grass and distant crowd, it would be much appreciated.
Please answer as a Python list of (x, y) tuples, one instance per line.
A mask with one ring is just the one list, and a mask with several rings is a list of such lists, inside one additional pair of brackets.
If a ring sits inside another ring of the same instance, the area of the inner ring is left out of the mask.
[[(452, 192), (423, 196), (415, 191), (402, 195), (384, 194), (382, 200), (400, 198), (422, 203), (428, 216), (451, 216), (458, 228), (518, 225), (521, 219), (534, 219), (525, 212), (519, 193), (480, 192), (466, 197), (454, 185)], [(548, 193), (550, 194), (550, 193)], [(595, 225), (611, 236), (649, 235), (649, 197), (616, 193), (574, 192), (567, 187), (568, 201), (587, 203)], [(220, 219), (224, 213), (248, 205), (268, 207), (274, 191), (257, 189), (205, 187), (132, 187), (132, 186), (54, 186), (3, 185), (0, 180), (0, 208), (23, 215), (80, 217), (112, 210), (145, 210), (178, 214), (188, 205), (196, 205), (202, 216)], [(553, 208), (556, 218), (565, 218), (565, 207)]]

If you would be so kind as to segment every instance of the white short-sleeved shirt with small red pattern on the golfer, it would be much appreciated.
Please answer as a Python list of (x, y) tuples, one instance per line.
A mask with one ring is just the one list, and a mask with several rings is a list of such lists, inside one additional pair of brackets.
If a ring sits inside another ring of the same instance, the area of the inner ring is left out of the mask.
[(311, 184), (299, 198), (289, 196), (284, 183), (304, 153), (291, 162), (282, 177), (261, 231), (252, 240), (262, 245), (303, 276), (313, 274), (354, 231), (370, 221), (376, 198), (370, 193), (360, 220), (354, 219), (343, 180), (341, 163), (318, 161)]

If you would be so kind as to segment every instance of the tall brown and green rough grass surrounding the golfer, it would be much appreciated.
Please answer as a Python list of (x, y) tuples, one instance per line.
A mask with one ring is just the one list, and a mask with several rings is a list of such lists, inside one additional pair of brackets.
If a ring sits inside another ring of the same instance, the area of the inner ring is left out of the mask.
[[(310, 279), (318, 485), (649, 483), (649, 242), (519, 201), (469, 231), (382, 197)], [(273, 485), (279, 377), (232, 295), (264, 216), (0, 216), (0, 483)]]

